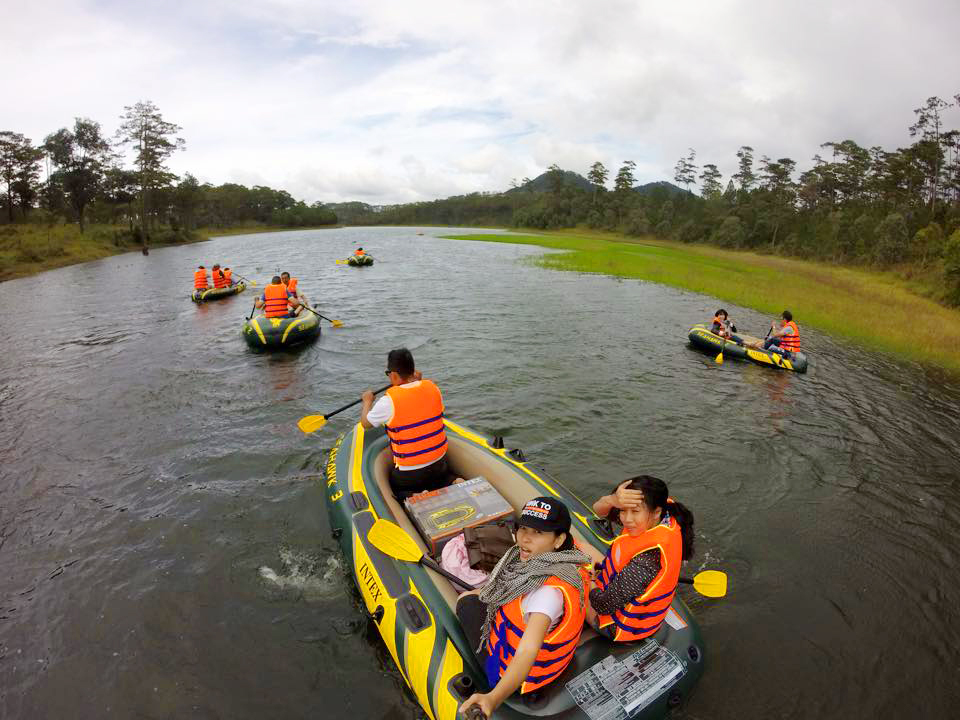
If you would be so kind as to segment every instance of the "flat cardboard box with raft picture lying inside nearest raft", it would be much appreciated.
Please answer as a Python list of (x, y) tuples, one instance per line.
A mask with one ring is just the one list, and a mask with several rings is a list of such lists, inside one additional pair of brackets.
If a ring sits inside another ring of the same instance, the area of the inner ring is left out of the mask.
[(434, 556), (464, 528), (513, 518), (513, 508), (484, 477), (432, 490), (403, 504)]

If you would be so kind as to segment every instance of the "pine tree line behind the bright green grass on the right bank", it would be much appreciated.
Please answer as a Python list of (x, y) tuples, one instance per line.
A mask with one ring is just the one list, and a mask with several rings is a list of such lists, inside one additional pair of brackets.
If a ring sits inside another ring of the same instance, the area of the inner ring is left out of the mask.
[(601, 162), (586, 178), (552, 165), (503, 193), (370, 208), (354, 222), (587, 226), (705, 242), (894, 269), (924, 280), (936, 299), (960, 305), (960, 130), (946, 122), (958, 107), (960, 94), (952, 101), (931, 97), (914, 111), (904, 147), (829, 141), (799, 173), (794, 159), (744, 145), (724, 182), (716, 164), (698, 165), (690, 149), (674, 168), (676, 186), (637, 188), (630, 160), (612, 178)]

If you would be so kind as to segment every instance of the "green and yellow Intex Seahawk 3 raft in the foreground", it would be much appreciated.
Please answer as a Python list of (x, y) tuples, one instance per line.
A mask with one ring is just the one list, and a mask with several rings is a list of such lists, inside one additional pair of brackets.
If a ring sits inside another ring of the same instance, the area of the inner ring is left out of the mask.
[[(514, 512), (539, 495), (560, 498), (570, 509), (577, 543), (606, 552), (613, 536), (593, 511), (556, 480), (530, 467), (521, 451), (504, 450), (500, 438), (491, 444), (449, 420), (444, 423), (452, 473), (482, 475)], [(364, 430), (357, 424), (337, 440), (326, 467), (330, 524), (366, 609), (423, 711), (435, 720), (454, 720), (467, 697), (490, 688), (457, 620), (458, 588), (423, 565), (384, 554), (367, 537), (376, 520), (386, 519), (429, 554), (389, 492), (391, 462), (383, 428)], [(700, 631), (678, 593), (666, 621), (647, 640), (613, 643), (585, 627), (561, 676), (536, 693), (514, 694), (494, 717), (626, 718), (626, 713), (614, 712), (618, 700), (598, 678), (632, 669), (636, 678), (620, 698), (632, 704), (629, 717), (662, 718), (691, 692), (703, 668)]]

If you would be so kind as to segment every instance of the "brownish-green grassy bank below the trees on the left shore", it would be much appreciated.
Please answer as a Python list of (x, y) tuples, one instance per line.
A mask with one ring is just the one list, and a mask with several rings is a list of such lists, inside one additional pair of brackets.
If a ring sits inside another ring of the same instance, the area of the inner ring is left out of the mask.
[[(228, 229), (198, 228), (192, 233), (164, 228), (151, 236), (149, 246), (154, 248), (203, 242), (222, 235), (308, 229), (315, 228), (252, 225)], [(131, 238), (126, 226), (88, 225), (86, 232), (81, 234), (80, 226), (75, 223), (49, 227), (34, 224), (0, 225), (0, 281), (138, 251), (140, 247), (140, 244)]]

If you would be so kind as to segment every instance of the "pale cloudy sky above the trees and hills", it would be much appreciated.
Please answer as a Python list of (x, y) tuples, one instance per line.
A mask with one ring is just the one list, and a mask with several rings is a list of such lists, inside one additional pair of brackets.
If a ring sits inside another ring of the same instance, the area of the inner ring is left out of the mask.
[(112, 134), (152, 100), (183, 128), (175, 172), (309, 202), (595, 160), (672, 179), (688, 147), (725, 176), (744, 144), (805, 165), (828, 140), (907, 144), (914, 108), (960, 92), (947, 0), (0, 3), (0, 130)]

